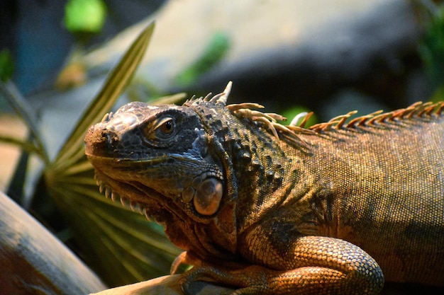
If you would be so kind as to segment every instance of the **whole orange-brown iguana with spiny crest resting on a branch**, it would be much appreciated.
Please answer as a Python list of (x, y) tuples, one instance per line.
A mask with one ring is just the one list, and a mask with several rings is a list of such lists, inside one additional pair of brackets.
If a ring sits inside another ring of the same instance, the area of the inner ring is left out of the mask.
[(444, 286), (444, 103), (305, 128), (216, 96), (133, 102), (85, 137), (106, 195), (165, 225), (233, 294), (378, 294)]

